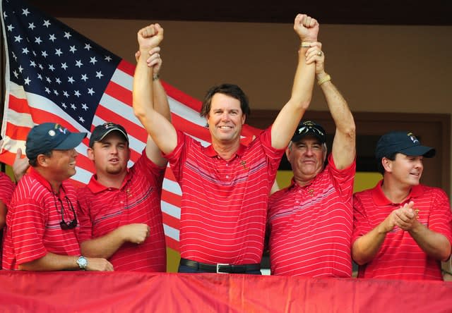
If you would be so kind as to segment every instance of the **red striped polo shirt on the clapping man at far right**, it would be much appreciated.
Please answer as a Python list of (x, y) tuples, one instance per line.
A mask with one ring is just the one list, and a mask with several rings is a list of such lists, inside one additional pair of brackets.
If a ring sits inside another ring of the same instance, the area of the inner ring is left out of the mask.
[[(407, 200), (391, 203), (381, 190), (381, 180), (374, 188), (355, 193), (352, 243), (379, 225), (391, 211), (410, 201), (418, 209), (417, 219), (431, 231), (452, 242), (452, 214), (446, 193), (439, 188), (416, 185)], [(359, 266), (359, 278), (442, 280), (441, 263), (429, 257), (408, 231), (397, 226), (386, 238), (371, 262)]]

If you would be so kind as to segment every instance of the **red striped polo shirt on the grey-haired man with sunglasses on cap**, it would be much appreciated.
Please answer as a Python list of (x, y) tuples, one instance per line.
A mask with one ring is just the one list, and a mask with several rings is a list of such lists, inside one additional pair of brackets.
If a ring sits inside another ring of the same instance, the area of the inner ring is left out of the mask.
[(343, 170), (328, 165), (309, 185), (292, 180), (268, 202), (273, 275), (350, 277), (355, 161)]

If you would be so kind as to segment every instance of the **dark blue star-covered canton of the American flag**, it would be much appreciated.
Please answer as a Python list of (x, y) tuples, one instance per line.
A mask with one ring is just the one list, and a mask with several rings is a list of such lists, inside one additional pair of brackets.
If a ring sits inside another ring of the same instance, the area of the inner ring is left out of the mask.
[(90, 131), (121, 59), (22, 1), (4, 2), (11, 81), (51, 100)]

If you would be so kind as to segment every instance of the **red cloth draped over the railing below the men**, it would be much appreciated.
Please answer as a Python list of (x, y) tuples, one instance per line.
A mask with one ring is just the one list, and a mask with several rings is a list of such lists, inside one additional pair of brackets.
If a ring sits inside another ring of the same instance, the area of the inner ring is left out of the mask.
[(0, 271), (0, 312), (452, 312), (452, 283)]

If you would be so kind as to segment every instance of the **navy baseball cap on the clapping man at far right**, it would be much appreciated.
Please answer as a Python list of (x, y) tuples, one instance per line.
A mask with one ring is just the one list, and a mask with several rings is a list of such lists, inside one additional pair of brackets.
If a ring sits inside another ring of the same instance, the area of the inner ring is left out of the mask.
[(393, 131), (384, 134), (376, 143), (375, 157), (382, 159), (395, 153), (401, 153), (408, 156), (424, 156), (431, 158), (436, 150), (432, 147), (421, 145), (417, 137), (406, 131)]

